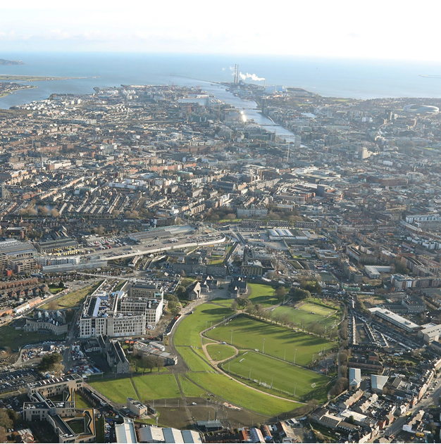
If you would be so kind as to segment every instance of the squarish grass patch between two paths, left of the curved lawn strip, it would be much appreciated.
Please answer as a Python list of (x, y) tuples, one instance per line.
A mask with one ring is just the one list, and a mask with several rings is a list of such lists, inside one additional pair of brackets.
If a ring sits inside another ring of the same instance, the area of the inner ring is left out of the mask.
[(135, 376), (133, 381), (135, 381), (142, 401), (180, 398), (178, 383), (173, 374)]

